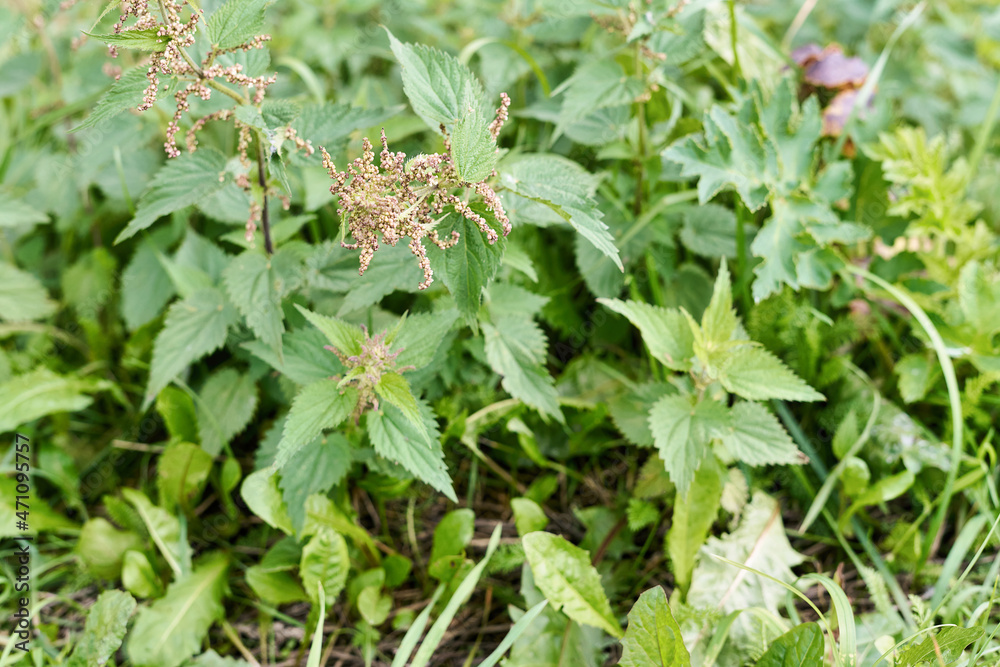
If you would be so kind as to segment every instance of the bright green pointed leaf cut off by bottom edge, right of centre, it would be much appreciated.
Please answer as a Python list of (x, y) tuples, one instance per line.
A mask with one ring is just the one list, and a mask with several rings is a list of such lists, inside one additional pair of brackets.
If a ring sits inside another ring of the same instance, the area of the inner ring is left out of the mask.
[[(805, 663), (802, 663), (805, 665)], [(681, 628), (659, 586), (639, 596), (628, 613), (619, 667), (691, 667)]]

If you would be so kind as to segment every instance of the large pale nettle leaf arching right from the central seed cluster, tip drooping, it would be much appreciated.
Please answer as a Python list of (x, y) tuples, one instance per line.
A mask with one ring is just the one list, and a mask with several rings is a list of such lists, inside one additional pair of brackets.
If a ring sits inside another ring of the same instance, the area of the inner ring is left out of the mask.
[(602, 222), (594, 191), (598, 179), (561, 155), (534, 154), (506, 165), (501, 182), (521, 197), (545, 204), (624, 271), (614, 237)]

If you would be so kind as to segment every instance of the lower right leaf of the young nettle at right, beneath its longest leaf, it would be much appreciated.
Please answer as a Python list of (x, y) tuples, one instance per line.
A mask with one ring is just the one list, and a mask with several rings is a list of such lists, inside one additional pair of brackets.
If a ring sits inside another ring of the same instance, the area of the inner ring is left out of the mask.
[(737, 403), (729, 416), (729, 426), (720, 435), (737, 461), (752, 466), (807, 461), (778, 419), (760, 403)]

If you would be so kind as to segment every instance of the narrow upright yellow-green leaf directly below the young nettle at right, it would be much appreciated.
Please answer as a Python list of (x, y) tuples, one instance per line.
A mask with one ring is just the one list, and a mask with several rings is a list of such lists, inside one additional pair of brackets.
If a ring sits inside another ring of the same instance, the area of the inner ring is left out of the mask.
[(677, 494), (667, 533), (667, 553), (673, 563), (672, 572), (677, 587), (684, 593), (691, 585), (695, 556), (715, 523), (721, 500), (722, 476), (713, 457), (695, 472), (687, 494)]

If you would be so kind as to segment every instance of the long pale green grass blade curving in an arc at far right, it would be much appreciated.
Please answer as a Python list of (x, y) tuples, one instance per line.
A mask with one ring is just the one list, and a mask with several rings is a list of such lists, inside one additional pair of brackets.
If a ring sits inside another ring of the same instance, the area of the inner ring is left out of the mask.
[[(938, 363), (941, 364), (941, 371), (944, 374), (944, 382), (948, 387), (948, 402), (951, 406), (951, 467), (948, 469), (944, 489), (940, 495), (941, 504), (938, 505), (937, 512), (935, 512), (934, 518), (931, 519), (930, 529), (924, 537), (922, 552), (925, 557), (930, 557), (931, 545), (938, 530), (940, 530), (941, 525), (944, 523), (945, 515), (948, 512), (948, 505), (955, 491), (955, 480), (958, 479), (958, 467), (962, 459), (962, 444), (964, 442), (962, 429), (964, 422), (962, 417), (962, 396), (958, 388), (955, 366), (951, 363), (951, 357), (948, 356), (948, 350), (944, 344), (944, 340), (941, 338), (941, 334), (938, 333), (937, 327), (931, 322), (931, 318), (927, 316), (927, 313), (920, 307), (920, 304), (914, 301), (909, 294), (860, 267), (848, 264), (847, 270), (855, 276), (878, 285), (910, 311), (910, 314), (913, 315), (914, 319), (920, 323), (920, 326), (927, 333), (927, 337), (930, 338), (931, 347), (934, 348), (934, 352), (937, 354)], [(918, 565), (917, 572), (919, 571), (920, 567)]]

